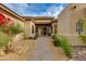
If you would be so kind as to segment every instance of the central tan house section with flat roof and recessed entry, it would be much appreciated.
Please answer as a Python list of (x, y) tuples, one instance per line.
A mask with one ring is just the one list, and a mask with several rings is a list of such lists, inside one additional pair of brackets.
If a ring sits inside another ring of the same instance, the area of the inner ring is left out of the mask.
[(25, 18), (25, 37), (52, 36), (57, 34), (57, 20), (49, 16), (23, 16)]

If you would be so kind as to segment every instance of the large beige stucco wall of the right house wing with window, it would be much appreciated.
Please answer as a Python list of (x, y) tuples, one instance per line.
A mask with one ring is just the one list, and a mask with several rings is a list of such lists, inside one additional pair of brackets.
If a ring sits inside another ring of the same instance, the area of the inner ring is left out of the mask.
[(71, 3), (58, 15), (58, 34), (65, 35), (71, 46), (85, 46), (78, 40), (78, 35), (86, 34), (86, 4)]

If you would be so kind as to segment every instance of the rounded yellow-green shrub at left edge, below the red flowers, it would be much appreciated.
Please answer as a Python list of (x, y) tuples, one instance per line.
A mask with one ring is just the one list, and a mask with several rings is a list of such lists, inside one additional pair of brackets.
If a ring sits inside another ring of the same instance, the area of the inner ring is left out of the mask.
[(9, 35), (0, 31), (0, 47), (8, 46), (10, 40), (11, 40), (11, 37)]

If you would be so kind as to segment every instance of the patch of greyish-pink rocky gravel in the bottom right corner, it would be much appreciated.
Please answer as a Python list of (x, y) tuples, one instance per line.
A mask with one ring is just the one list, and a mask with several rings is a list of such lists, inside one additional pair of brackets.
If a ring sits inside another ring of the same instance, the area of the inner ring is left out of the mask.
[(75, 46), (72, 48), (72, 61), (86, 61), (86, 46)]

